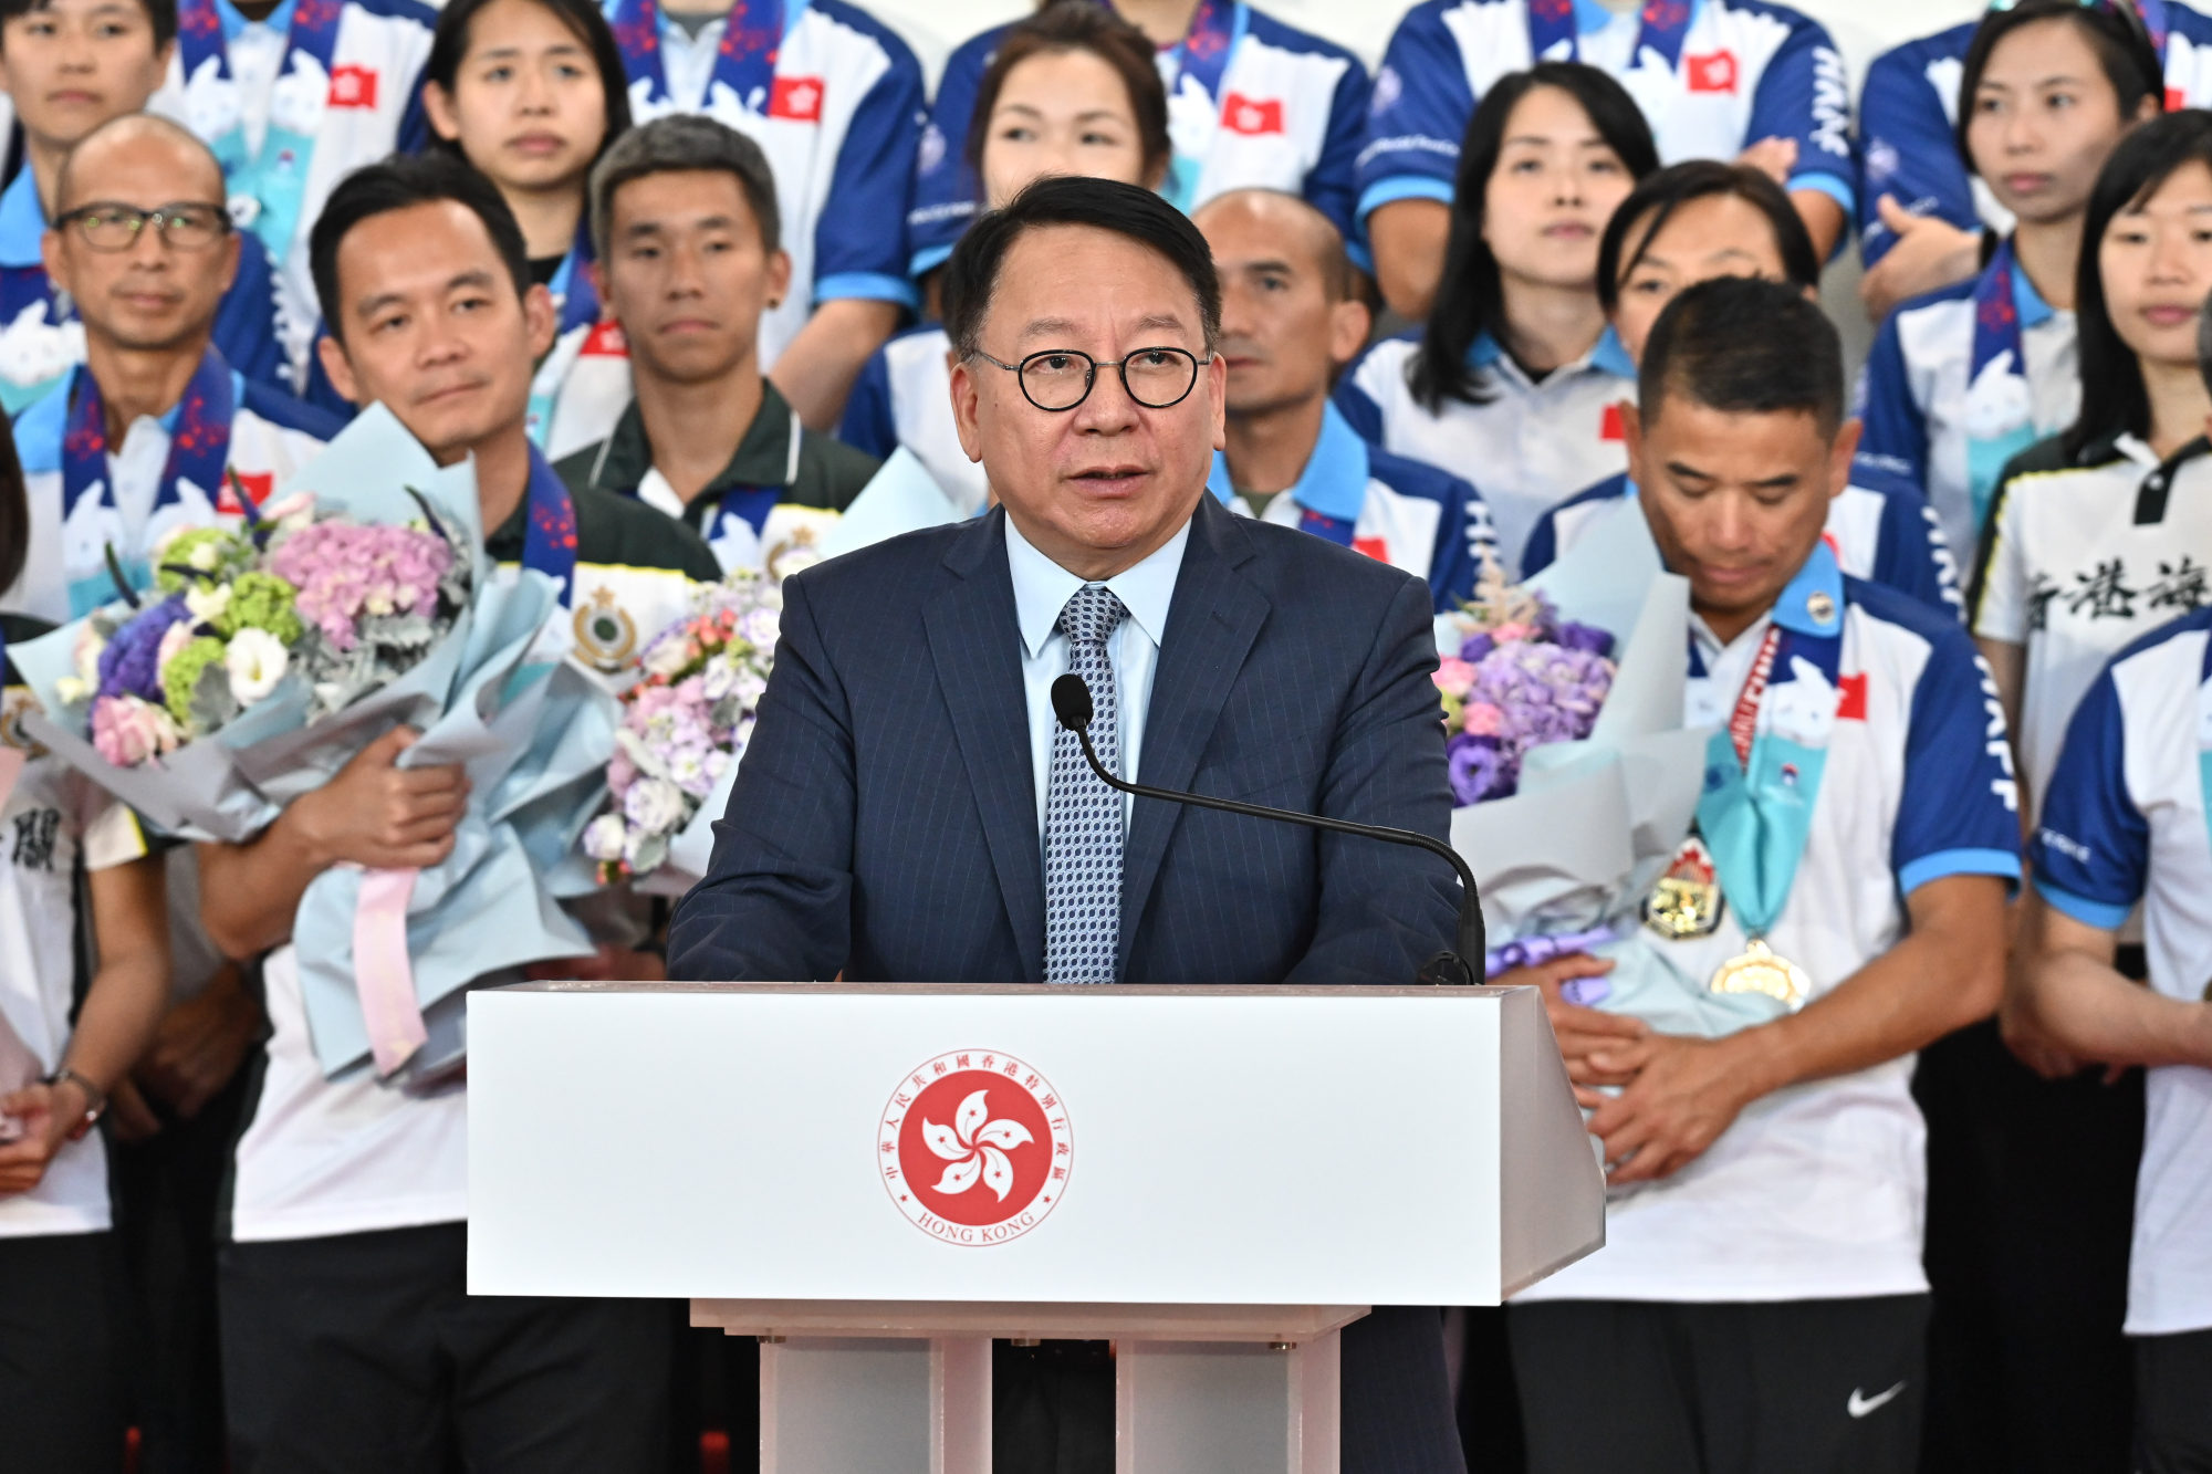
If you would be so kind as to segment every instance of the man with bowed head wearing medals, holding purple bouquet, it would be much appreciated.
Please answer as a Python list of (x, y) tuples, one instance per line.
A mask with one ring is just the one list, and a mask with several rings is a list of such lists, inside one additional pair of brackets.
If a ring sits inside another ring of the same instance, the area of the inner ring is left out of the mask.
[(1588, 958), (1498, 978), (1551, 996), (1615, 1188), (1606, 1253), (1506, 1312), (1531, 1470), (1905, 1474), (1929, 1306), (1913, 1051), (2002, 987), (2004, 717), (1955, 620), (1843, 575), (1820, 536), (1856, 427), (1796, 288), (1681, 292), (1624, 427), (1690, 584), (1686, 719), (1714, 728), (1694, 850), (1639, 938), (1765, 1023), (1661, 1034), (1588, 1007)]

